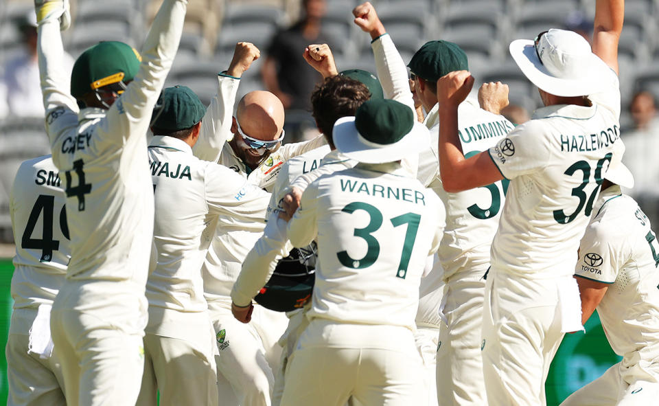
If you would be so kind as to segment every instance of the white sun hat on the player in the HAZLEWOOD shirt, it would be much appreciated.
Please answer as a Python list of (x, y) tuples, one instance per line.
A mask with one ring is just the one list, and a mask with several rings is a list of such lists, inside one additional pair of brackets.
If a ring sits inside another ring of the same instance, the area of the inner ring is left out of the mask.
[(533, 40), (510, 43), (515, 63), (539, 89), (557, 96), (583, 96), (601, 91), (610, 69), (581, 35), (548, 30)]

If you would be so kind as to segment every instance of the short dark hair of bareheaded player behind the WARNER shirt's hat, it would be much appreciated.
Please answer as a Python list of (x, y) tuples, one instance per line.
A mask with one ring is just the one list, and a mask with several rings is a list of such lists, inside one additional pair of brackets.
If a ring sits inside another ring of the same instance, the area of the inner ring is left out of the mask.
[(336, 120), (355, 115), (359, 106), (370, 98), (371, 92), (365, 84), (345, 76), (332, 76), (316, 85), (311, 93), (312, 115), (329, 146), (334, 148), (332, 128)]

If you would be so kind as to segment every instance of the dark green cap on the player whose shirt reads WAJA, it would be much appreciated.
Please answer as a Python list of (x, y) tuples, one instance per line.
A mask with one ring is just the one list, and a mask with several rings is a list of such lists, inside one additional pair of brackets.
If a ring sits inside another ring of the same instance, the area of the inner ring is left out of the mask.
[[(156, 111), (158, 109), (158, 111)], [(189, 87), (174, 86), (163, 90), (154, 109), (154, 131), (167, 135), (190, 128), (201, 121), (206, 106)]]

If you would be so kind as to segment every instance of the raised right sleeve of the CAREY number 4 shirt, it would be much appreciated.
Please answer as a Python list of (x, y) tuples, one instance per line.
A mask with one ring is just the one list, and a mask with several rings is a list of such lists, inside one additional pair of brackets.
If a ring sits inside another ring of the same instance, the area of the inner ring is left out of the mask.
[(161, 5), (144, 41), (139, 70), (97, 127), (99, 139), (125, 144), (130, 137), (146, 137), (181, 40), (186, 5), (187, 0), (165, 0)]

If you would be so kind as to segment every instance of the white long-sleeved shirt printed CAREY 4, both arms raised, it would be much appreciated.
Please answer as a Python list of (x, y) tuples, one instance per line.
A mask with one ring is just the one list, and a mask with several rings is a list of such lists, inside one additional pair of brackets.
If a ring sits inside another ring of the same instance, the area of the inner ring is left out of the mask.
[[(176, 56), (186, 3), (165, 0), (143, 45), (139, 71), (107, 111), (84, 109), (77, 114), (76, 100), (64, 91), (70, 72), (61, 69), (59, 24), (38, 27), (46, 130), (67, 195), (67, 280), (111, 282), (99, 286), (106, 293), (135, 292), (141, 304), (146, 302), (154, 215), (146, 133)], [(89, 293), (88, 306), (101, 306), (92, 290), (80, 293), (78, 303)]]

